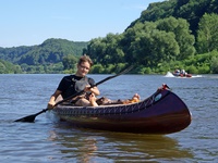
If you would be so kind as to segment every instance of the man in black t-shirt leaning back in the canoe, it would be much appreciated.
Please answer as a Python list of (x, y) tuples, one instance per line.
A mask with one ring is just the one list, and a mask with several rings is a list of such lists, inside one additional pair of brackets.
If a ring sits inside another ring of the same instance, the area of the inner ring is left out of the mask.
[[(95, 86), (95, 80), (90, 77), (86, 77), (92, 65), (93, 65), (93, 61), (90, 60), (88, 55), (81, 57), (77, 63), (77, 71), (75, 75), (69, 75), (62, 78), (57, 90), (50, 97), (47, 108), (52, 109), (53, 105), (56, 104), (57, 98), (60, 95), (62, 96), (63, 99), (68, 99), (72, 95), (84, 90), (85, 92), (90, 92), (89, 93), (90, 97), (99, 96), (100, 91), (98, 90), (97, 87), (90, 88), (90, 86)], [(77, 98), (77, 101), (75, 101), (75, 104), (81, 105), (81, 106), (93, 105), (90, 104), (90, 101), (84, 97)]]

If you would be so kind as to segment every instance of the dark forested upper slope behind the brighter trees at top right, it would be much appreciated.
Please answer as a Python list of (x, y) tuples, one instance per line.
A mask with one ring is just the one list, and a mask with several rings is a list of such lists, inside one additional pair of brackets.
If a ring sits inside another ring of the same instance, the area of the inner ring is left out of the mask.
[(150, 3), (147, 10), (144, 10), (141, 16), (128, 28), (131, 28), (138, 22), (156, 22), (173, 16), (186, 20), (190, 23), (191, 32), (196, 36), (199, 20), (205, 13), (218, 14), (218, 0), (167, 0), (155, 2)]

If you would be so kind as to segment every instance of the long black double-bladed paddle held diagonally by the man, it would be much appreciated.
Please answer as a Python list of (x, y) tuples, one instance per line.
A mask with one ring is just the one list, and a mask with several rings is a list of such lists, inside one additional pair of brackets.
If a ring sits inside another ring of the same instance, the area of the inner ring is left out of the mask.
[[(125, 74), (125, 73), (128, 73), (129, 71), (131, 71), (132, 68), (133, 68), (133, 65), (131, 65), (131, 66), (128, 67), (126, 70), (120, 72), (119, 74), (109, 76), (109, 77), (107, 77), (107, 78), (105, 78), (105, 79), (98, 82), (97, 84), (95, 84), (95, 85), (92, 86), (90, 88), (96, 87), (96, 86), (98, 86), (98, 85), (100, 85), (100, 84), (102, 84), (102, 83), (105, 83), (105, 82), (107, 82), (107, 80), (109, 80), (109, 79), (111, 79), (111, 78), (114, 78), (114, 77), (117, 77), (117, 76), (119, 76), (119, 75)], [(82, 95), (83, 92), (84, 92), (84, 90), (78, 91), (78, 92), (76, 92), (76, 93), (74, 93), (74, 95), (72, 95), (72, 96), (70, 96), (70, 97), (68, 97), (68, 98), (65, 98), (65, 99), (63, 99), (63, 100), (57, 102), (57, 103), (53, 105), (53, 108), (56, 108), (58, 104), (60, 104), (60, 103), (62, 103), (62, 102), (65, 102), (65, 101), (68, 101), (68, 100), (70, 100), (70, 99), (73, 99), (73, 98), (75, 98), (75, 97)], [(43, 111), (40, 111), (40, 112), (38, 112), (38, 113), (36, 113), (36, 114), (32, 114), (32, 115), (28, 115), (28, 116), (19, 118), (19, 120), (16, 120), (16, 121), (14, 121), (14, 122), (29, 122), (29, 123), (33, 123), (33, 122), (35, 121), (35, 118), (36, 118), (37, 115), (39, 115), (39, 114), (41, 114), (41, 113), (45, 113), (45, 112), (48, 111), (48, 110), (50, 110), (50, 109), (44, 109)]]

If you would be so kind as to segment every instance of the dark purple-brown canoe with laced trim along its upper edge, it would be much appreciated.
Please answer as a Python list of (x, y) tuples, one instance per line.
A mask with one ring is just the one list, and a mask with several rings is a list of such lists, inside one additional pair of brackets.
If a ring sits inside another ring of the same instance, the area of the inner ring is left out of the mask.
[(99, 106), (59, 104), (51, 111), (72, 127), (119, 133), (166, 135), (191, 124), (186, 104), (170, 89), (158, 89), (137, 103)]

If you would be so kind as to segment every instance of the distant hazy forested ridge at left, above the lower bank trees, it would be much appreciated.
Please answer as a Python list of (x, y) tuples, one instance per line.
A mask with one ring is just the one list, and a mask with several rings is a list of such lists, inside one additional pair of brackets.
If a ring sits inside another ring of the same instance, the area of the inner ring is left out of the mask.
[(82, 55), (86, 47), (87, 42), (51, 38), (38, 46), (0, 48), (0, 59), (27, 65), (58, 63), (66, 55)]

